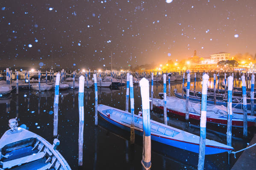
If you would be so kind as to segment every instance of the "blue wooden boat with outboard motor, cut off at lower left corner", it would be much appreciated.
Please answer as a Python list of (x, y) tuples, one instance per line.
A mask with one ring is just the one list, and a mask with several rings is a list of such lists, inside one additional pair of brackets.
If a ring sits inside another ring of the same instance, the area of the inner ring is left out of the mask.
[(53, 144), (22, 127), (16, 119), (9, 120), (10, 130), (0, 139), (0, 170), (71, 170)]

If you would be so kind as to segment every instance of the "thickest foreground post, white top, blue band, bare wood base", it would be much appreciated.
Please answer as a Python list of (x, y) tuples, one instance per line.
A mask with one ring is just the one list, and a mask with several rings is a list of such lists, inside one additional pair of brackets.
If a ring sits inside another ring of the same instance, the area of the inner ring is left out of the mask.
[(141, 164), (144, 170), (151, 168), (151, 133), (150, 133), (150, 108), (149, 108), (149, 82), (142, 78), (139, 82), (142, 100), (142, 122), (143, 122), (143, 155)]

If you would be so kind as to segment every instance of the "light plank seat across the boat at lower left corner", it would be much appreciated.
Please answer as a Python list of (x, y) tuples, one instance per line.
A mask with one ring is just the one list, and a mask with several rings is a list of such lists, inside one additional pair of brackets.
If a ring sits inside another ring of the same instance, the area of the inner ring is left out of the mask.
[(32, 161), (35, 161), (38, 159), (42, 159), (42, 158), (44, 158), (45, 155), (46, 155), (46, 153), (39, 152), (39, 153), (33, 153), (32, 155), (29, 155), (29, 156), (21, 157), (19, 159), (13, 159), (11, 161), (2, 162), (3, 169), (11, 168), (16, 165), (25, 164), (25, 163), (32, 162)]

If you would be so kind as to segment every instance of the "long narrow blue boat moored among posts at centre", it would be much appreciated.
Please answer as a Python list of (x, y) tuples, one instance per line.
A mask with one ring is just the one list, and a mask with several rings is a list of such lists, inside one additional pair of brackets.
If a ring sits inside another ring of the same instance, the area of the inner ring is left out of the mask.
[[(107, 122), (130, 131), (131, 113), (106, 105), (98, 105), (98, 112)], [(134, 122), (135, 133), (142, 136), (142, 117), (134, 115)], [(194, 153), (199, 153), (199, 136), (153, 120), (150, 120), (150, 122), (152, 140)], [(233, 147), (227, 146), (226, 144), (206, 139), (206, 155), (223, 153), (232, 149)]]

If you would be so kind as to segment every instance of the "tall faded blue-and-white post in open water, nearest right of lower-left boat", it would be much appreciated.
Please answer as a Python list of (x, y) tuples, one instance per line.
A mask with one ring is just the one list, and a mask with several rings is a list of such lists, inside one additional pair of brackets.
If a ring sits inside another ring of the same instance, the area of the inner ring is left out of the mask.
[(79, 108), (79, 136), (78, 136), (78, 165), (82, 166), (82, 145), (83, 145), (83, 129), (84, 129), (84, 90), (85, 77), (79, 77), (78, 89), (78, 108)]

